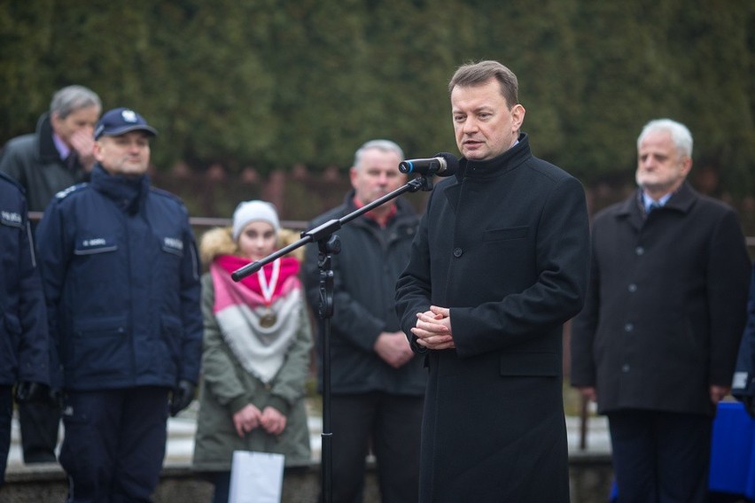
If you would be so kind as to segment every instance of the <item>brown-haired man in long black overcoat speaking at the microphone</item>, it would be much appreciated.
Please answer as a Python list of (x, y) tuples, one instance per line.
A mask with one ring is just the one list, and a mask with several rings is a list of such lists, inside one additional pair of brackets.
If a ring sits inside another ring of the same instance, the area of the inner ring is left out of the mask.
[(569, 501), (562, 324), (589, 264), (580, 182), (533, 157), (517, 78), (494, 61), (449, 83), (458, 172), (439, 182), (397, 283), (429, 370), (420, 501)]

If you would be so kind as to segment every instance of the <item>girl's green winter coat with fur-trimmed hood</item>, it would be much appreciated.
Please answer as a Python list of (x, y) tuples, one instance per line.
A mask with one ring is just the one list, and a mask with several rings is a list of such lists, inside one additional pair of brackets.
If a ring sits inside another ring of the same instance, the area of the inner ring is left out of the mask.
[[(221, 243), (219, 248), (218, 238)], [(235, 246), (230, 237), (230, 229), (210, 231), (202, 239), (203, 259), (232, 252), (229, 246)], [(300, 329), (288, 349), (283, 367), (269, 384), (263, 383), (241, 366), (222, 337), (213, 314), (213, 306), (214, 285), (212, 276), (207, 273), (202, 276), (205, 335), (194, 445), (195, 468), (229, 470), (234, 451), (281, 453), (285, 455), (286, 466), (309, 464), (311, 452), (304, 394), (312, 338), (304, 302), (299, 311)], [(284, 432), (279, 437), (273, 437), (264, 429), (253, 429), (244, 438), (238, 437), (232, 417), (249, 403), (260, 410), (265, 406), (274, 406), (284, 414)]]

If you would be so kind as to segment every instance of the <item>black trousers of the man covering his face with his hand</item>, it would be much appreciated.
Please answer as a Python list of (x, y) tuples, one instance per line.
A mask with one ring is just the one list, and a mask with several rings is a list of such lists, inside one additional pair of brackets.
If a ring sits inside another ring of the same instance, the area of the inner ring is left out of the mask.
[(55, 463), (60, 407), (52, 400), (19, 404), (19, 426), (24, 462)]

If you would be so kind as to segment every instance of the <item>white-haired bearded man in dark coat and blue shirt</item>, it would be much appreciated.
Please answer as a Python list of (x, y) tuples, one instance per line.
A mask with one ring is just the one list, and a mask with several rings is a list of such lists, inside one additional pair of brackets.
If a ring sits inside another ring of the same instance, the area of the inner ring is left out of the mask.
[(702, 503), (750, 261), (734, 210), (685, 181), (689, 129), (650, 121), (637, 148), (639, 190), (593, 223), (572, 385), (608, 414), (619, 501)]

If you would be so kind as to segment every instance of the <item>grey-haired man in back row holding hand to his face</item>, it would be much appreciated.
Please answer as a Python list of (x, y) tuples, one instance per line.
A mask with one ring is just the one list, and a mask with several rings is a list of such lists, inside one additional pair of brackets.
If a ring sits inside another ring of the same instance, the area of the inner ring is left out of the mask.
[[(0, 172), (23, 187), (29, 212), (42, 212), (55, 194), (89, 177), (94, 127), (102, 109), (97, 94), (67, 86), (52, 97), (36, 132), (12, 138), (0, 155)], [(33, 227), (34, 227), (34, 222)], [(55, 399), (19, 404), (25, 463), (55, 462), (60, 412)]]

